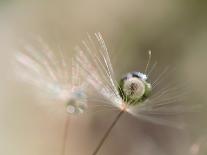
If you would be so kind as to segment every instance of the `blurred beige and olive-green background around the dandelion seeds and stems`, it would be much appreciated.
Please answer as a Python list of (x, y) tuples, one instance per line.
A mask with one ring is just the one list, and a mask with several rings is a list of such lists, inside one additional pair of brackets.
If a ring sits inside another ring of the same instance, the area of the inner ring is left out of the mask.
[[(188, 102), (203, 104), (184, 131), (124, 115), (99, 155), (206, 155), (204, 0), (0, 0), (0, 154), (60, 155), (68, 117), (56, 101), (15, 79), (10, 62), (16, 45), (39, 35), (54, 51), (60, 44), (72, 56), (87, 32), (103, 34), (118, 79), (143, 70), (150, 49), (161, 67), (176, 68), (175, 80), (188, 81)], [(115, 115), (71, 117), (66, 154), (90, 155)]]

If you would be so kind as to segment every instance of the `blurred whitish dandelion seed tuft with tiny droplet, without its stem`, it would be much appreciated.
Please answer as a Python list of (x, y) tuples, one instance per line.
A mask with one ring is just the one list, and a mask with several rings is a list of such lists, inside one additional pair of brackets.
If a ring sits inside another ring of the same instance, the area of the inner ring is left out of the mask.
[[(65, 60), (63, 51), (53, 52), (41, 38), (38, 46), (26, 44), (15, 54), (17, 77), (37, 91), (63, 102), (69, 114), (79, 114), (87, 108), (86, 83), (79, 76), (80, 67)], [(71, 69), (71, 73), (68, 71)]]

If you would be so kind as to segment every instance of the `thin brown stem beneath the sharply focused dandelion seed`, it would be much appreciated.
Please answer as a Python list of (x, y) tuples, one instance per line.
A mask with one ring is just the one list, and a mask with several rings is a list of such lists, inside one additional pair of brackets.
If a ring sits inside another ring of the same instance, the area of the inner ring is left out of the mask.
[(114, 119), (114, 121), (112, 122), (112, 124), (110, 125), (110, 127), (108, 128), (108, 130), (106, 131), (106, 133), (104, 134), (103, 138), (101, 139), (101, 141), (99, 142), (98, 146), (96, 147), (95, 151), (92, 153), (92, 155), (97, 155), (97, 153), (99, 152), (99, 150), (101, 149), (101, 147), (103, 146), (105, 140), (107, 139), (107, 137), (109, 136), (109, 134), (111, 133), (111, 130), (113, 129), (113, 127), (116, 125), (116, 123), (118, 122), (118, 120), (120, 119), (120, 117), (122, 116), (122, 114), (124, 113), (124, 110), (122, 110)]

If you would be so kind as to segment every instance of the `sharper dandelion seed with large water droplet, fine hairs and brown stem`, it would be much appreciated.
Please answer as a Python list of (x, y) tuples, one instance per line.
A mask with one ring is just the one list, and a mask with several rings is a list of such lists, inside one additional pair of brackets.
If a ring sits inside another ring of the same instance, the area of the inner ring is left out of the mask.
[[(95, 39), (94, 39), (95, 38)], [(88, 34), (88, 38), (82, 41), (82, 45), (75, 48), (77, 51), (76, 61), (82, 69), (81, 73), (97, 92), (99, 92), (108, 104), (117, 107), (120, 113), (101, 139), (93, 155), (96, 155), (123, 113), (149, 121), (155, 124), (167, 125), (170, 127), (183, 128), (183, 124), (177, 120), (169, 119), (170, 116), (179, 115), (186, 109), (169, 108), (169, 105), (178, 103), (179, 96), (170, 87), (154, 92), (155, 87), (167, 76), (166, 68), (154, 82), (149, 82), (149, 75), (152, 74), (157, 63), (149, 68), (151, 51), (144, 72), (135, 71), (127, 73), (119, 82), (116, 81), (110, 54), (102, 38), (101, 33), (94, 36)], [(175, 93), (175, 94), (173, 94)], [(182, 97), (182, 95), (181, 95)], [(164, 116), (164, 117), (163, 117)]]

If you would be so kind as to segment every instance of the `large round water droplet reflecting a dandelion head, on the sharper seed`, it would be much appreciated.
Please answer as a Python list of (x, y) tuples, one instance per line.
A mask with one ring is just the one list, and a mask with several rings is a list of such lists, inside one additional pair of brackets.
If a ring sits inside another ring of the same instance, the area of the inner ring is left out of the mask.
[(119, 93), (127, 104), (135, 105), (147, 99), (152, 90), (147, 78), (141, 72), (130, 72), (120, 80)]

